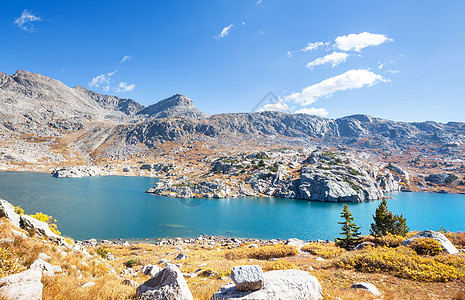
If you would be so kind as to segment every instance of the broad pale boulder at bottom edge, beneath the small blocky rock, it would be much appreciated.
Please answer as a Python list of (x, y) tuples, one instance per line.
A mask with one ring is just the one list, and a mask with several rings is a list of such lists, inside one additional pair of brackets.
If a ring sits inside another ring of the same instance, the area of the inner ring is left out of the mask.
[(263, 274), (264, 285), (253, 292), (239, 291), (234, 283), (227, 284), (212, 299), (322, 299), (321, 285), (315, 276), (300, 270), (278, 270)]

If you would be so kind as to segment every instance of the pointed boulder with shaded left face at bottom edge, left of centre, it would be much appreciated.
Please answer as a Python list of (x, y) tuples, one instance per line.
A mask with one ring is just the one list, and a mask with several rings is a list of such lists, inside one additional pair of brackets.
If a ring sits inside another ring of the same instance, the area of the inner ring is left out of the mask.
[(178, 267), (173, 264), (161, 270), (155, 277), (147, 280), (136, 290), (137, 299), (141, 300), (192, 300), (187, 282)]

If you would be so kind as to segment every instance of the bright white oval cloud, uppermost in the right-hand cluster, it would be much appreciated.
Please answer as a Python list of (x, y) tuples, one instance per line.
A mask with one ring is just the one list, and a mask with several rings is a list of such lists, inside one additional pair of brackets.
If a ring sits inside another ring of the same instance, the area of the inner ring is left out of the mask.
[(360, 52), (363, 48), (392, 42), (393, 39), (388, 38), (384, 34), (362, 32), (338, 36), (334, 41), (336, 42), (336, 48), (339, 50)]

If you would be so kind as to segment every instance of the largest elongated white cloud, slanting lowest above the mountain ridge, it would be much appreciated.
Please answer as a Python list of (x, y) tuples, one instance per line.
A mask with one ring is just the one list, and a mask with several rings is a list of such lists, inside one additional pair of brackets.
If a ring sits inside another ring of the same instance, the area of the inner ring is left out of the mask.
[(304, 88), (300, 93), (293, 93), (286, 97), (286, 100), (293, 100), (301, 105), (309, 105), (322, 97), (330, 97), (337, 91), (362, 88), (372, 86), (378, 82), (386, 80), (378, 74), (368, 70), (349, 70), (341, 75), (330, 77)]

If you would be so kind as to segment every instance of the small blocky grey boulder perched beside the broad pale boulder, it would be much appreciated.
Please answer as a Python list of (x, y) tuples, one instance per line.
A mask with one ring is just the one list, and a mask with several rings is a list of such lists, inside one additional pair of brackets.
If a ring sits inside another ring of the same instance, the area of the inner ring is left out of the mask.
[(255, 291), (263, 287), (263, 271), (258, 265), (236, 266), (232, 268), (231, 279), (239, 291)]

